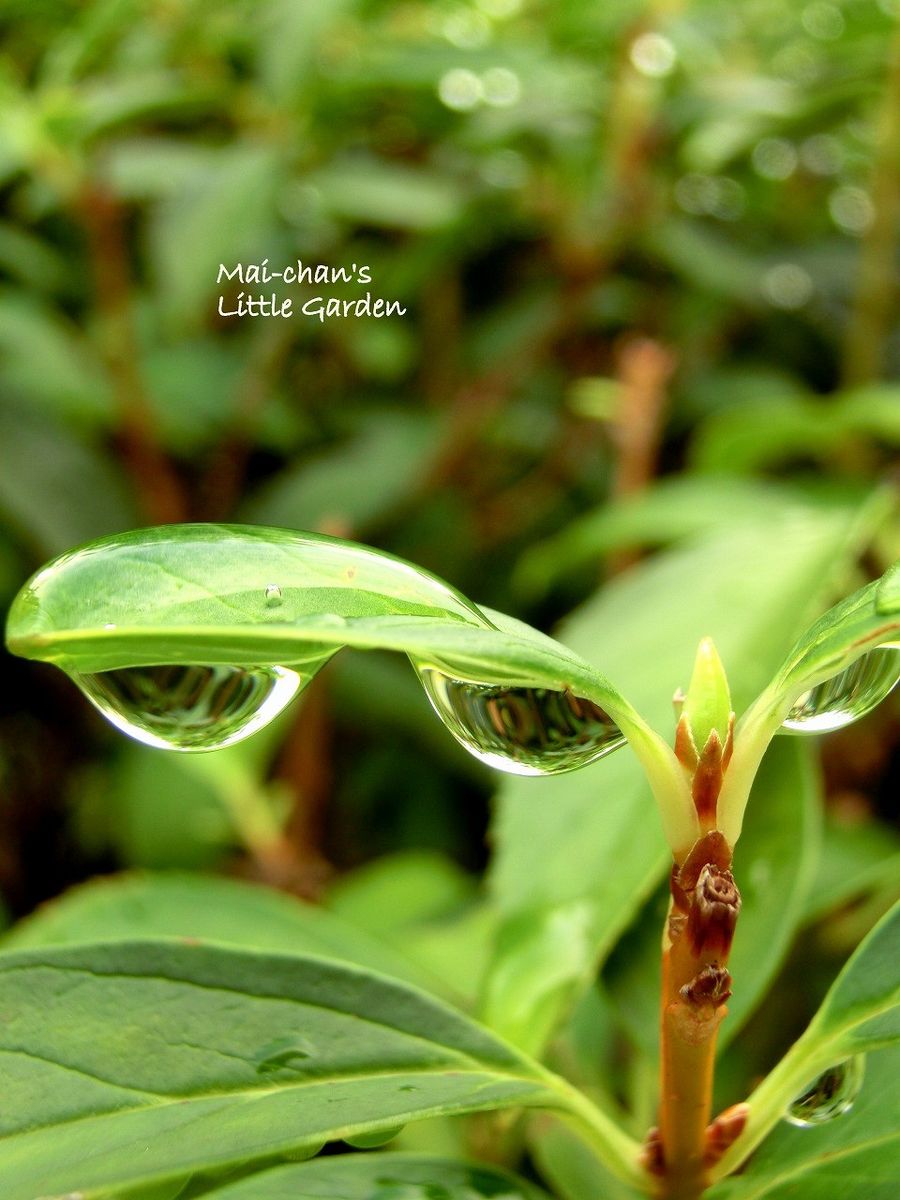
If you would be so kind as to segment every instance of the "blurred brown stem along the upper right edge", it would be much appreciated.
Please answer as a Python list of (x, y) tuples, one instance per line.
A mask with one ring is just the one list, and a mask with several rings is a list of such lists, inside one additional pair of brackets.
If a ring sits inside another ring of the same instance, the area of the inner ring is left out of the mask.
[(900, 232), (900, 22), (890, 44), (888, 74), (875, 130), (872, 222), (860, 246), (853, 308), (844, 344), (848, 386), (880, 379), (898, 295)]

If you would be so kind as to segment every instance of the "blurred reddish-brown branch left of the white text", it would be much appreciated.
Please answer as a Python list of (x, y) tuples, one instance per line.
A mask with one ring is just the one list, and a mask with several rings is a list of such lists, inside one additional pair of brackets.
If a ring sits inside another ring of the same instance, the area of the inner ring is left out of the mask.
[(139, 352), (131, 301), (128, 246), (121, 205), (102, 185), (88, 182), (77, 199), (88, 234), (101, 318), (101, 347), (113, 384), (122, 455), (148, 521), (184, 521), (184, 490), (156, 440), (154, 416), (138, 367)]

